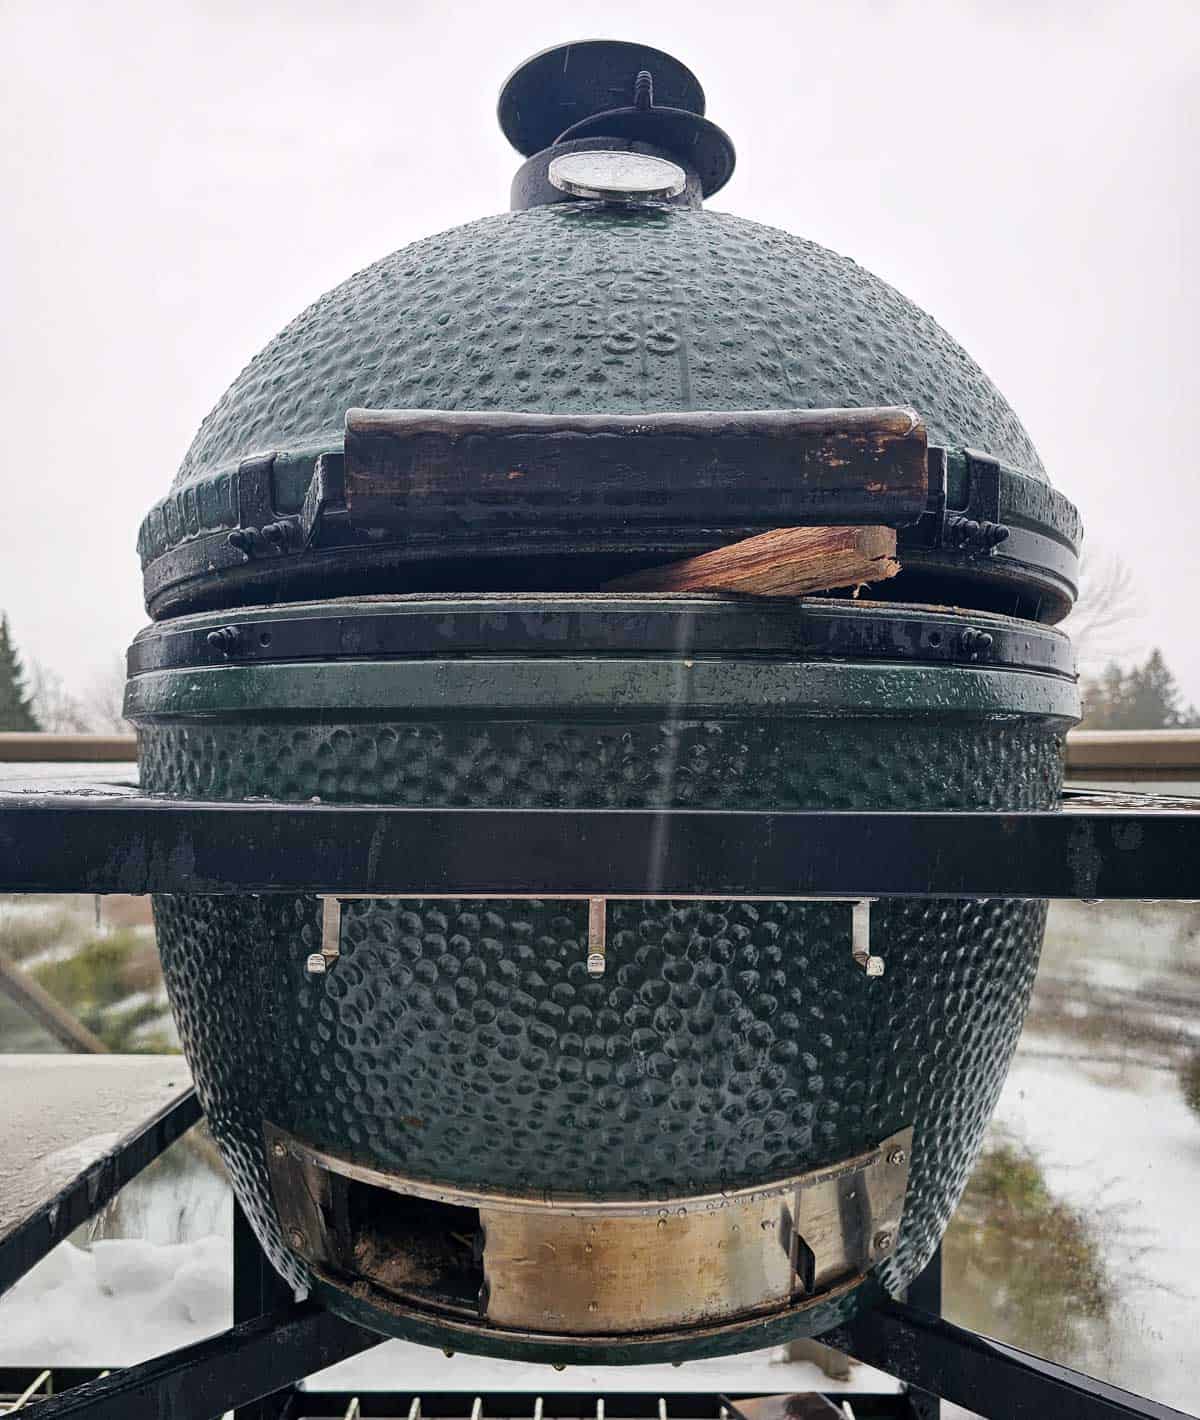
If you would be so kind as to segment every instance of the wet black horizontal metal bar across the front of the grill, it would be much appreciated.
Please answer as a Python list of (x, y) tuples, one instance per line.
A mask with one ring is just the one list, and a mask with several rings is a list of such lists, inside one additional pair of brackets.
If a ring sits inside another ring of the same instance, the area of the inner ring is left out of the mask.
[(1200, 893), (1197, 809), (1086, 792), (1028, 812), (398, 808), (6, 784), (0, 890), (1177, 899)]

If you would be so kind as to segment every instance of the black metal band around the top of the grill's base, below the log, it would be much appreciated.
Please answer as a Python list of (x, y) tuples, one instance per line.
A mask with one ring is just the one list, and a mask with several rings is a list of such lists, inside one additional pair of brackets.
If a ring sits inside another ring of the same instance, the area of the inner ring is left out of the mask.
[[(970, 636), (967, 635), (970, 632)], [(398, 595), (258, 606), (158, 622), (129, 648), (131, 676), (200, 666), (429, 656), (754, 656), (1011, 666), (1075, 674), (1049, 626), (900, 602), (719, 594)]]

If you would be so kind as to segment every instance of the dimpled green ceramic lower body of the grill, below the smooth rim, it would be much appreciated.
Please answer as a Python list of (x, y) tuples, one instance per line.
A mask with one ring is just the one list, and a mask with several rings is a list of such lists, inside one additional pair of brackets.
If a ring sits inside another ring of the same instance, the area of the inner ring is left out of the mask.
[[(872, 714), (723, 720), (408, 721), (254, 714), (142, 726), (143, 784), (183, 798), (425, 805), (1045, 808), (1065, 717)], [(1045, 909), (876, 905), (851, 960), (849, 912), (807, 903), (611, 905), (608, 970), (587, 974), (587, 910), (554, 902), (356, 902), (342, 957), (314, 897), (158, 897), (183, 1045), (234, 1189), (276, 1265), (263, 1120), (409, 1176), (474, 1190), (693, 1193), (765, 1181), (916, 1126), (899, 1287), (936, 1248), (1008, 1069)], [(329, 1305), (435, 1345), (547, 1359), (452, 1333), (349, 1291)], [(821, 1305), (744, 1332), (619, 1339), (554, 1359), (687, 1359), (835, 1325)]]

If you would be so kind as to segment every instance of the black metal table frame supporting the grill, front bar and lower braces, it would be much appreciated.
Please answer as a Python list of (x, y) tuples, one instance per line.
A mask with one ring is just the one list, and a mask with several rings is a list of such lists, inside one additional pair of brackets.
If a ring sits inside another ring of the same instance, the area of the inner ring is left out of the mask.
[[(1200, 801), (1072, 794), (1062, 812), (754, 812), (702, 809), (412, 809), (324, 804), (199, 804), (121, 785), (4, 785), (0, 892), (579, 893), (687, 897), (960, 896), (1183, 899), (1200, 895)], [(582, 880), (577, 865), (587, 863)], [(653, 865), (650, 868), (649, 865)], [(178, 1119), (175, 1119), (178, 1112)], [(189, 1095), (149, 1135), (162, 1146), (195, 1119)], [(119, 1170), (136, 1173), (141, 1153)], [(47, 1248), (54, 1238), (47, 1230)], [(21, 1271), (31, 1265), (21, 1251)], [(0, 1291), (16, 1278), (0, 1275)], [(859, 1420), (929, 1420), (936, 1397), (990, 1420), (1169, 1420), (1182, 1411), (954, 1326), (940, 1315), (940, 1260), (906, 1301), (885, 1299), (822, 1336), (906, 1383), (896, 1396), (849, 1394)], [(71, 1389), (37, 1402), (44, 1420), (300, 1420), (345, 1414), (349, 1396), (297, 1382), (381, 1340), (295, 1302), (240, 1211), (234, 1326), (105, 1376), (57, 1370)], [(0, 1369), (0, 1390), (33, 1370)], [(467, 1416), (474, 1393), (425, 1392)], [(362, 1414), (405, 1414), (413, 1396), (362, 1396)], [(497, 1394), (484, 1416), (533, 1411)], [(665, 1397), (697, 1420), (720, 1396)], [(658, 1394), (606, 1396), (611, 1420), (653, 1416)], [(342, 1406), (341, 1410), (328, 1409)], [(550, 1393), (548, 1420), (595, 1397)], [(324, 1409), (322, 1409), (324, 1407)]]

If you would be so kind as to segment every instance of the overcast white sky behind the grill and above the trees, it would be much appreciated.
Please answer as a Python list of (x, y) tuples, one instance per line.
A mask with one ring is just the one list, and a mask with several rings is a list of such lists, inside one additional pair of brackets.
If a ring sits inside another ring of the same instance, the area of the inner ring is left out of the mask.
[(565, 40), (699, 74), (713, 206), (848, 253), (1008, 396), (1200, 700), (1200, 3), (0, 0), (0, 609), (80, 686), (143, 622), (133, 540), (301, 307), (507, 207), (500, 82)]

